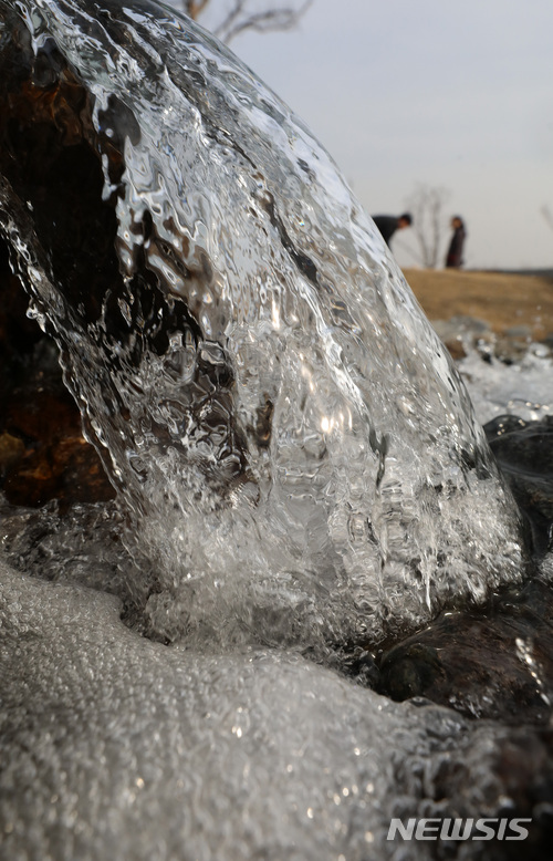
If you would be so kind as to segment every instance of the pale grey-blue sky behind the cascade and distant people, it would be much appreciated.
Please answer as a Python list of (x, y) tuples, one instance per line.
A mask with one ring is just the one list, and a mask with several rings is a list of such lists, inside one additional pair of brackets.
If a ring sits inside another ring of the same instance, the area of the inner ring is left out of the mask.
[[(442, 187), (444, 241), (461, 215), (467, 268), (553, 268), (552, 34), (553, 0), (314, 0), (296, 30), (230, 46), (369, 215), (403, 212), (418, 183)], [(409, 248), (413, 231), (397, 234), (403, 266)]]

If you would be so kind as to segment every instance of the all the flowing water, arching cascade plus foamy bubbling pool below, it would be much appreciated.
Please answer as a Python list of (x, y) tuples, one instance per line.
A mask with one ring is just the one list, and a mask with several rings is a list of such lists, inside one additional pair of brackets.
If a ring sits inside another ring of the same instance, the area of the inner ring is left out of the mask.
[(0, 51), (1, 229), (117, 488), (2, 509), (6, 858), (422, 858), (392, 816), (518, 809), (510, 730), (341, 672), (528, 553), (328, 155), (155, 3), (2, 0)]

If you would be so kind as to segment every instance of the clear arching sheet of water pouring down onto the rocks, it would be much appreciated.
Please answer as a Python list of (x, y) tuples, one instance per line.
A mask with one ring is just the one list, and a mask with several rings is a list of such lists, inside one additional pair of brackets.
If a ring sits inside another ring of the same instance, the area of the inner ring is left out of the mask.
[(466, 391), (303, 124), (155, 3), (0, 11), (2, 229), (149, 630), (374, 640), (519, 578)]

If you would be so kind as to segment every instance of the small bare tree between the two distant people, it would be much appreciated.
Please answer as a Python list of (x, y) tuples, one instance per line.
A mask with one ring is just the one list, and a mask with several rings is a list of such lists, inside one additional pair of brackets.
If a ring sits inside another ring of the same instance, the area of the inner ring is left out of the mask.
[(407, 208), (413, 215), (413, 232), (418, 246), (418, 250), (409, 248), (409, 251), (425, 269), (436, 269), (438, 266), (447, 226), (444, 205), (449, 197), (450, 191), (442, 186), (417, 183), (406, 199)]

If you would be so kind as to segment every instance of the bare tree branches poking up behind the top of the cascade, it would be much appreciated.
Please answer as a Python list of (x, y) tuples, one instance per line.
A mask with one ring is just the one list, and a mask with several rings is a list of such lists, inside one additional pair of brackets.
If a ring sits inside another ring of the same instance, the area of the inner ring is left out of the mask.
[[(215, 6), (210, 0), (181, 0), (185, 12), (197, 20), (206, 8)], [(270, 30), (292, 30), (305, 14), (313, 0), (304, 0), (300, 6), (273, 6), (270, 9), (254, 10), (250, 0), (232, 0), (230, 9), (212, 28), (212, 32), (223, 42), (230, 42), (244, 30), (267, 33)]]

